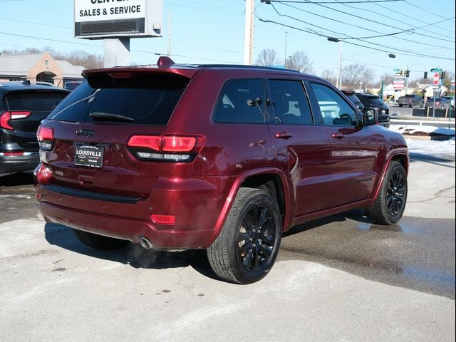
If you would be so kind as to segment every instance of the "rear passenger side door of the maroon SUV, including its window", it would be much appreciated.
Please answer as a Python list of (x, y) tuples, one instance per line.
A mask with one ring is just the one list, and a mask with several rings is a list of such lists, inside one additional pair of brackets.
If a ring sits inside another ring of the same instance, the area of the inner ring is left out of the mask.
[(289, 175), (295, 216), (328, 207), (331, 191), (330, 144), (323, 125), (316, 123), (301, 80), (269, 79), (269, 124), (276, 162)]

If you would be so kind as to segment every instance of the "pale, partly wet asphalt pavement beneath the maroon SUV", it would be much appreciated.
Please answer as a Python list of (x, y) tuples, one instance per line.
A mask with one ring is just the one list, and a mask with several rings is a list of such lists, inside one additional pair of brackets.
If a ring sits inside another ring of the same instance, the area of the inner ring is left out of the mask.
[(83, 246), (0, 177), (0, 341), (455, 341), (455, 159), (416, 155), (405, 216), (294, 227), (270, 274), (219, 281), (204, 251)]

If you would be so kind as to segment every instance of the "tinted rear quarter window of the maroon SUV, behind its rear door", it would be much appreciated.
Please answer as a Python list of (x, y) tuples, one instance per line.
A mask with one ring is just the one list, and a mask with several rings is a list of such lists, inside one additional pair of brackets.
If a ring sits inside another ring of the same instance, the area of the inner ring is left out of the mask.
[(263, 80), (228, 81), (219, 95), (214, 113), (218, 123), (264, 123)]

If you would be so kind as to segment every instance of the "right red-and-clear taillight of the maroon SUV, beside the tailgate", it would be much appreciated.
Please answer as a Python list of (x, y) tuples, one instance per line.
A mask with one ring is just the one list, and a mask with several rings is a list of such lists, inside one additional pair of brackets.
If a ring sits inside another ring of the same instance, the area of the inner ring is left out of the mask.
[(203, 143), (204, 137), (200, 135), (133, 135), (127, 145), (140, 160), (191, 162)]

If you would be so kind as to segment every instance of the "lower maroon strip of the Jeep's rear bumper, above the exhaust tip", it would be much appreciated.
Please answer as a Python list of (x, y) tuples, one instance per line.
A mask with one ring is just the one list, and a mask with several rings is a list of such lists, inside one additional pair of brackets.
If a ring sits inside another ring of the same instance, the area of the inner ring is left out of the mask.
[(46, 222), (135, 243), (146, 237), (156, 249), (206, 249), (214, 239), (214, 229), (162, 228), (140, 219), (85, 212), (48, 202), (41, 202), (39, 209)]

